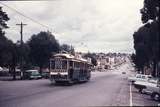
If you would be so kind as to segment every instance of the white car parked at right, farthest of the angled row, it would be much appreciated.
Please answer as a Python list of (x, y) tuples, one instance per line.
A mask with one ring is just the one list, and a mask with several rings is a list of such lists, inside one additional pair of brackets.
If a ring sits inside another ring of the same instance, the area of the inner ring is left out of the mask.
[(148, 81), (151, 77), (151, 75), (136, 74), (135, 76), (129, 77), (128, 80), (134, 83), (135, 81)]

